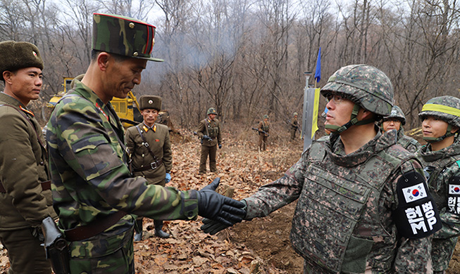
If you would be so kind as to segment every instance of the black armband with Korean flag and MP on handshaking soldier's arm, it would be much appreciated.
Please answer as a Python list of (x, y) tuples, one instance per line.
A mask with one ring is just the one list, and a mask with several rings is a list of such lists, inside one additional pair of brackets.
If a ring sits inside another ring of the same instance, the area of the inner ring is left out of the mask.
[(441, 229), (441, 219), (435, 200), (421, 174), (410, 171), (399, 178), (397, 199), (398, 207), (393, 216), (399, 235), (418, 239)]

